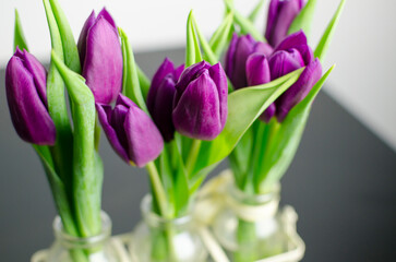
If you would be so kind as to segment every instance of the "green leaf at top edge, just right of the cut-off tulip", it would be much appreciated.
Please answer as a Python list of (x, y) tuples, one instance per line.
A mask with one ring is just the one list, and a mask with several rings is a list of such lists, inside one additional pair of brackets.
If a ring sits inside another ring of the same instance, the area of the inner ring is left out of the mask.
[(315, 7), (316, 7), (316, 0), (309, 0), (307, 2), (305, 7), (301, 10), (301, 12), (291, 23), (288, 32), (289, 35), (302, 29), (305, 33), (307, 37), (309, 38), (309, 36), (311, 35), (311, 26), (313, 24), (312, 20), (315, 13)]

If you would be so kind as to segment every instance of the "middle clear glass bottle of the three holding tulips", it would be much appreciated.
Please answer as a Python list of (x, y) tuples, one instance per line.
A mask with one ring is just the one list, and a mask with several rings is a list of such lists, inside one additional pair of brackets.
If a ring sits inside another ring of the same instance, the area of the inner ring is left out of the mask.
[(207, 251), (191, 215), (166, 219), (152, 211), (152, 196), (141, 204), (143, 221), (130, 241), (132, 261), (206, 262)]

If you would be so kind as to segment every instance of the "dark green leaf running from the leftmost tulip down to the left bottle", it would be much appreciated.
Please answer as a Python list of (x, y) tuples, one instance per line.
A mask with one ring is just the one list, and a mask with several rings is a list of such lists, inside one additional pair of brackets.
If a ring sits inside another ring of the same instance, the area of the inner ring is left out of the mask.
[(68, 202), (68, 193), (62, 180), (53, 169), (53, 163), (50, 157), (49, 148), (47, 146), (39, 145), (33, 145), (33, 147), (39, 156), (46, 171), (47, 179), (53, 195), (53, 201), (62, 219), (63, 227), (68, 234), (77, 237), (79, 230), (74, 224), (71, 203)]

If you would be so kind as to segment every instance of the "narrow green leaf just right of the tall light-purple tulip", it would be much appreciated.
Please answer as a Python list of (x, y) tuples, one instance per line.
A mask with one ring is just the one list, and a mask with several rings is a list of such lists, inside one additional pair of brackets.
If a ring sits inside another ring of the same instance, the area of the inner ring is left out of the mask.
[(121, 37), (123, 58), (123, 92), (131, 100), (133, 100), (143, 111), (145, 111), (149, 116), (146, 103), (143, 98), (141, 84), (139, 81), (139, 68), (134, 59), (132, 46), (129, 43), (127, 34), (121, 28), (118, 28), (118, 32)]

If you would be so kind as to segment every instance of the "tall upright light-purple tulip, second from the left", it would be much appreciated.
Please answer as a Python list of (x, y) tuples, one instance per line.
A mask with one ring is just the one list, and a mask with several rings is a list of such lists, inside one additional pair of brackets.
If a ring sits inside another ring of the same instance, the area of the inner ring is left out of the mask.
[(110, 104), (122, 87), (122, 51), (117, 26), (106, 9), (97, 17), (91, 13), (77, 46), (82, 74), (96, 103)]

